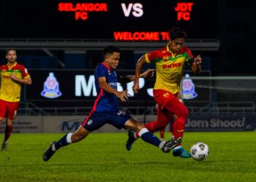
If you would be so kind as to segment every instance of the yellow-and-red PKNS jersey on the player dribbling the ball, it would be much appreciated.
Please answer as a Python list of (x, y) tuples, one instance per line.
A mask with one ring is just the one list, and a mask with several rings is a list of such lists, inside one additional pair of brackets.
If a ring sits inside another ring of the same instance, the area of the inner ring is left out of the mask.
[(184, 63), (191, 58), (193, 55), (189, 48), (182, 47), (177, 54), (174, 54), (170, 51), (169, 44), (161, 50), (147, 53), (147, 63), (156, 64), (157, 80), (154, 89), (167, 90), (173, 94), (179, 92), (179, 84), (184, 74)]

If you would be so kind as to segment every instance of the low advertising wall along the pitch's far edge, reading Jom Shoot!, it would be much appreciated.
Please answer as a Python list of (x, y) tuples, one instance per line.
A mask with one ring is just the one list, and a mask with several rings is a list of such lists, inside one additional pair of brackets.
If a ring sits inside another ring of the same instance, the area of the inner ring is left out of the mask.
[[(135, 116), (143, 121), (144, 115)], [(18, 116), (14, 122), (14, 132), (16, 133), (36, 133), (36, 132), (75, 132), (85, 116)], [(146, 122), (157, 119), (155, 115), (147, 115)], [(171, 123), (166, 127), (166, 131), (171, 130)], [(4, 132), (5, 124), (1, 124), (0, 132)], [(255, 116), (214, 116), (208, 115), (203, 119), (200, 116), (187, 120), (187, 131), (256, 131)], [(105, 124), (96, 132), (124, 132), (118, 130), (110, 124)]]

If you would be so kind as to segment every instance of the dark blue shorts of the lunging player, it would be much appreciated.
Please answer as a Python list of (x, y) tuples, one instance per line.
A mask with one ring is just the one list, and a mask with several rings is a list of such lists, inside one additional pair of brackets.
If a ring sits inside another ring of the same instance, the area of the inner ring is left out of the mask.
[(102, 127), (106, 123), (121, 129), (124, 128), (125, 122), (130, 118), (132, 118), (132, 116), (124, 113), (124, 111), (110, 111), (104, 113), (93, 111), (86, 117), (82, 126), (90, 132), (98, 130), (99, 127)]

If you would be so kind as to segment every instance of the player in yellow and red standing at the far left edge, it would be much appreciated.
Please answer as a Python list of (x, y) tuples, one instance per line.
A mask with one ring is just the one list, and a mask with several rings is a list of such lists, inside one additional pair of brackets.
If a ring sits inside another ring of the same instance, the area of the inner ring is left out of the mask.
[(7, 118), (4, 142), (1, 151), (7, 151), (7, 143), (12, 133), (12, 121), (15, 119), (20, 103), (20, 90), (22, 84), (31, 84), (27, 69), (16, 62), (16, 50), (7, 49), (7, 64), (0, 66), (0, 125)]

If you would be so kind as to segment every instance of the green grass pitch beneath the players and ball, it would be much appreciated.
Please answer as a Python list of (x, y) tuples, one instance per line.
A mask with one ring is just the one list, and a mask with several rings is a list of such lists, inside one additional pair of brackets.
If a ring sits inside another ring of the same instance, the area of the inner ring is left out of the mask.
[(175, 158), (141, 140), (126, 151), (127, 133), (92, 133), (43, 162), (50, 141), (62, 135), (13, 134), (8, 151), (0, 152), (0, 181), (256, 181), (256, 132), (186, 132), (185, 149), (208, 144), (203, 162)]

